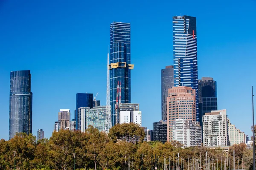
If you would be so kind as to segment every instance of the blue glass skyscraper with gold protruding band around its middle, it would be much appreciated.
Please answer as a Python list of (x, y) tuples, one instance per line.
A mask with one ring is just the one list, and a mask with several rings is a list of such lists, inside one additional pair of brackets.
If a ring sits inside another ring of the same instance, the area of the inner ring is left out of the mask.
[(121, 103), (131, 103), (131, 25), (113, 22), (110, 24), (110, 105), (112, 125), (116, 124), (117, 85)]

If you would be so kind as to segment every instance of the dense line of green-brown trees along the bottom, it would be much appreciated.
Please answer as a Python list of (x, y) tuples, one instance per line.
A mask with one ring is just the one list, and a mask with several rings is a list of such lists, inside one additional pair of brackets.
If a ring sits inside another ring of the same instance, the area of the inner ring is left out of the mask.
[(40, 141), (36, 141), (36, 137), (32, 134), (17, 133), (9, 141), (3, 139), (0, 141), (0, 170), (14, 169), (14, 160), (18, 170), (72, 170), (74, 169), (73, 153), (76, 153), (76, 169), (92, 170), (128, 170), (129, 167), (130, 170), (138, 170), (142, 165), (144, 170), (152, 170), (155, 165), (162, 170), (164, 160), (169, 164), (170, 158), (173, 165), (175, 159), (176, 164), (179, 153), (182, 158), (180, 161), (184, 162), (184, 170), (187, 170), (188, 159), (201, 158), (204, 163), (206, 151), (208, 158), (213, 157), (215, 162), (218, 159), (219, 170), (221, 170), (221, 161), (224, 169), (224, 159), (227, 156), (231, 158), (230, 169), (233, 169), (233, 150), (236, 153), (236, 161), (240, 162), (240, 168), (243, 159), (244, 169), (253, 169), (253, 153), (245, 144), (230, 147), (229, 153), (226, 154), (221, 148), (183, 149), (178, 142), (165, 144), (143, 142), (144, 135), (144, 129), (133, 123), (116, 125), (108, 135), (91, 126), (85, 133), (61, 130), (53, 132), (49, 139)]

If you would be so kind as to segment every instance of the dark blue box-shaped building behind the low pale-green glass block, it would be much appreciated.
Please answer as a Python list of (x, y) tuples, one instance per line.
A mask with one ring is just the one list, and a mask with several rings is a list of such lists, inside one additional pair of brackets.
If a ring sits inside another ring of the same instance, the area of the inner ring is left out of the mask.
[[(78, 108), (86, 107), (86, 108), (93, 108), (93, 94), (89, 93), (77, 93), (76, 94), (76, 114), (75, 120), (78, 122)], [(78, 124), (76, 124), (76, 130)]]

